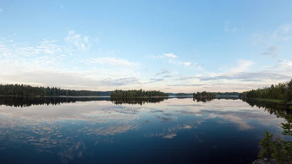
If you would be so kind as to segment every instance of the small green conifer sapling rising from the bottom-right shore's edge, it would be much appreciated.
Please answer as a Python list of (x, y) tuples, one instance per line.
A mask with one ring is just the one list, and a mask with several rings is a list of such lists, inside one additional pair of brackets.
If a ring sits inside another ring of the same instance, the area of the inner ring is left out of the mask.
[(269, 134), (269, 131), (266, 129), (264, 138), (260, 140), (260, 146), (263, 149), (260, 150), (258, 158), (271, 158), (273, 154), (273, 134)]

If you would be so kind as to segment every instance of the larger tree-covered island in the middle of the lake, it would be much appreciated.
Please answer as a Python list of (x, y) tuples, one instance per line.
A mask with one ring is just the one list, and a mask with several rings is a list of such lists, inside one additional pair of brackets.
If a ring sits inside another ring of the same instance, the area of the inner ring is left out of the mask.
[(145, 90), (115, 90), (110, 93), (110, 97), (168, 97), (168, 93), (162, 91), (145, 91)]

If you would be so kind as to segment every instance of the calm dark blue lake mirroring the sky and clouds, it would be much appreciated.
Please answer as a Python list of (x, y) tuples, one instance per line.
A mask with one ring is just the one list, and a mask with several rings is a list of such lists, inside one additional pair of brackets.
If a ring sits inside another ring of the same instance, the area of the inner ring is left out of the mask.
[(277, 114), (285, 106), (237, 97), (0, 97), (0, 105), (1, 164), (251, 164), (265, 129), (291, 139)]

